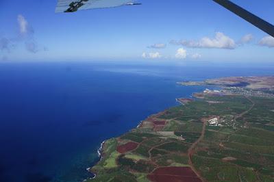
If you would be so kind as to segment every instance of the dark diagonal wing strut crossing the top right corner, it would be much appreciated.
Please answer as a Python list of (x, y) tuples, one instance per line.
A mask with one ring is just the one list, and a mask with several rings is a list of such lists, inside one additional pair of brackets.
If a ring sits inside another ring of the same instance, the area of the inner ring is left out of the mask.
[(215, 1), (216, 3), (219, 3), (219, 5), (222, 5), (224, 8), (227, 8), (227, 10), (234, 12), (234, 14), (240, 16), (241, 18), (244, 18), (249, 23), (253, 24), (254, 26), (261, 29), (262, 31), (274, 37), (274, 26), (271, 23), (264, 21), (262, 18), (256, 16), (255, 14), (252, 14), (251, 12), (248, 12), (247, 10), (241, 8), (235, 3), (232, 3), (232, 1), (229, 1), (229, 0), (213, 0), (213, 1)]

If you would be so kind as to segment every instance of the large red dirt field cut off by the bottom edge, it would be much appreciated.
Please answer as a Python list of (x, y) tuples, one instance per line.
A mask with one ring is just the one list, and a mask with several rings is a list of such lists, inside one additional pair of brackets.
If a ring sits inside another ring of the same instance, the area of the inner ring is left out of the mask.
[(201, 179), (189, 167), (158, 168), (147, 177), (154, 182), (201, 182)]

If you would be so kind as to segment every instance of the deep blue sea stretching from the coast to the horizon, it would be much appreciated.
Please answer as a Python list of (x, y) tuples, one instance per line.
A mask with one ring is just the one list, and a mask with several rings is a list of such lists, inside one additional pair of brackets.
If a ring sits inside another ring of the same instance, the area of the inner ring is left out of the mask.
[(82, 181), (103, 140), (205, 89), (176, 81), (274, 73), (210, 66), (1, 63), (0, 181)]

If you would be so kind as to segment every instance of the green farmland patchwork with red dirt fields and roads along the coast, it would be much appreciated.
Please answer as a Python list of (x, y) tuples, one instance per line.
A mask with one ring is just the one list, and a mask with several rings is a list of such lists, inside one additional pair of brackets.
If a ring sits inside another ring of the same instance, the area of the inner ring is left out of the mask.
[(273, 138), (273, 98), (203, 93), (107, 140), (87, 181), (274, 181)]

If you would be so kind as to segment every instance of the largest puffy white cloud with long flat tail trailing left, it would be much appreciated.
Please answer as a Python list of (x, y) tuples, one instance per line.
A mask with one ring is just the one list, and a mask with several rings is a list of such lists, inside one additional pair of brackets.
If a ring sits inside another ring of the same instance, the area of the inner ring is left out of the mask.
[(183, 45), (191, 48), (218, 48), (218, 49), (235, 49), (236, 43), (232, 38), (225, 36), (221, 32), (216, 32), (214, 38), (204, 37), (201, 40), (172, 40), (171, 44)]

